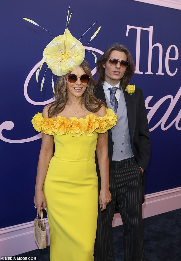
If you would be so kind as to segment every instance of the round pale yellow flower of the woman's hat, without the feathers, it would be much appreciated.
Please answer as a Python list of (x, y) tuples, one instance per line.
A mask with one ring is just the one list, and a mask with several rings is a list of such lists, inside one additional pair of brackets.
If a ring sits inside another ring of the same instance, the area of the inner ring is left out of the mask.
[(75, 70), (84, 60), (85, 48), (68, 29), (55, 37), (43, 51), (43, 57), (53, 74), (60, 76)]

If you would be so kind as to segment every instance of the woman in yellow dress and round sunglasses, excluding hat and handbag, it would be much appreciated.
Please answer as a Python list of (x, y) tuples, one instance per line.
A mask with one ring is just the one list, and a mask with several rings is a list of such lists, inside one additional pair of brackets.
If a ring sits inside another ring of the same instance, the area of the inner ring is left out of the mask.
[[(51, 261), (92, 261), (99, 204), (111, 201), (107, 152), (108, 129), (116, 116), (93, 95), (94, 80), (85, 61), (59, 76), (55, 101), (36, 114), (32, 123), (42, 132), (35, 185), (35, 206), (47, 209)], [(55, 153), (53, 147), (55, 143)]]

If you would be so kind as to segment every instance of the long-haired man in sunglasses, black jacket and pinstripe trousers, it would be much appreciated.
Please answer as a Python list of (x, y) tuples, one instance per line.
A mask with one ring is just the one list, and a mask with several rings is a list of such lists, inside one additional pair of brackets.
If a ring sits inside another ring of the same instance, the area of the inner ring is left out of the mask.
[[(135, 66), (128, 49), (109, 46), (97, 62), (96, 96), (118, 116), (108, 132), (110, 193), (112, 201), (98, 211), (96, 261), (113, 261), (112, 219), (118, 209), (123, 222), (124, 261), (144, 260), (142, 195), (144, 171), (150, 157), (150, 133), (143, 93), (128, 86)], [(97, 164), (100, 187), (100, 173)]]

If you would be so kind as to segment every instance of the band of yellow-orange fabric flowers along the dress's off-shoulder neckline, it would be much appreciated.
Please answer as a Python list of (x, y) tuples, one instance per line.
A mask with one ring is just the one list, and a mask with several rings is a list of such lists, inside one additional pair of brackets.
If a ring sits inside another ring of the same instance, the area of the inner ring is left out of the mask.
[(69, 117), (69, 120), (62, 116), (53, 118), (43, 118), (42, 113), (37, 113), (32, 119), (33, 127), (36, 131), (48, 135), (64, 135), (70, 133), (71, 136), (92, 136), (94, 131), (105, 133), (116, 125), (117, 116), (112, 109), (106, 108), (106, 115), (103, 117), (88, 114), (86, 118), (77, 119)]

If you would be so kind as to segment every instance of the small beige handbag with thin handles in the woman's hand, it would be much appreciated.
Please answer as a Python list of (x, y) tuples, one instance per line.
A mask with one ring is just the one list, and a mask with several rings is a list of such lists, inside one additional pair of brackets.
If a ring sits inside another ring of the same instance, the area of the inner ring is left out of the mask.
[(45, 229), (42, 208), (41, 208), (41, 217), (38, 218), (38, 213), (37, 213), (37, 217), (35, 218), (33, 237), (34, 237), (39, 249), (47, 247), (47, 232)]

